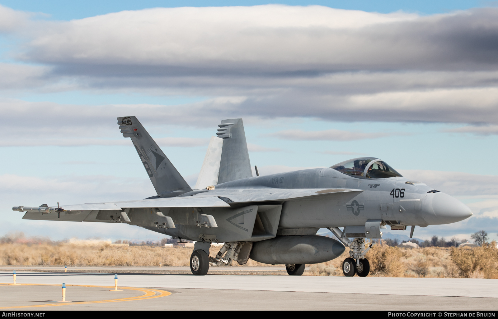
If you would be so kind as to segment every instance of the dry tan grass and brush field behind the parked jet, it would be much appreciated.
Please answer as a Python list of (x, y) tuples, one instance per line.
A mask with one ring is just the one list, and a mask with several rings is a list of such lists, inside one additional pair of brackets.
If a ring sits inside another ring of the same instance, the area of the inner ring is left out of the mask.
[[(219, 247), (211, 247), (211, 256)], [(68, 266), (188, 266), (192, 248), (115, 246), (109, 243), (82, 246), (71, 242), (37, 244), (0, 243), (0, 265), (68, 265)], [(349, 257), (346, 248), (340, 257), (310, 267), (305, 275), (342, 276), (342, 262)], [(498, 249), (495, 242), (483, 247), (399, 248), (375, 244), (367, 253), (370, 276), (377, 277), (446, 277), (498, 278)], [(239, 266), (235, 263), (234, 266)], [(249, 259), (244, 267), (271, 266)], [(275, 265), (281, 266), (281, 265)]]

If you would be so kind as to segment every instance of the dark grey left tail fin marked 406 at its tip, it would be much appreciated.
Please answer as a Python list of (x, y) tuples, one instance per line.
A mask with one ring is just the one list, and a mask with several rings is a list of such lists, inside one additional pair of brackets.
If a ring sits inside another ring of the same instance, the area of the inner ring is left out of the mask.
[(118, 124), (123, 136), (131, 138), (159, 197), (178, 196), (192, 190), (136, 117), (118, 117)]

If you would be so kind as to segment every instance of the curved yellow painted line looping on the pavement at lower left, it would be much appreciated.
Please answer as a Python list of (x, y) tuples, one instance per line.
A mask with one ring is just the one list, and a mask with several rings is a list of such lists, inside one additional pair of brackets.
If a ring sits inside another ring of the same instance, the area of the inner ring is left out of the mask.
[[(51, 284), (18, 284), (22, 286), (60, 286)], [(12, 284), (0, 283), (0, 286), (13, 286)], [(91, 285), (66, 285), (73, 287), (96, 287), (96, 288), (114, 288), (115, 286), (91, 286)], [(136, 290), (143, 292), (141, 296), (119, 298), (119, 299), (108, 299), (108, 300), (97, 300), (97, 301), (83, 301), (74, 303), (57, 303), (57, 304), (43, 304), (43, 305), (33, 305), (33, 306), (19, 306), (19, 307), (0, 307), (0, 309), (12, 309), (12, 308), (36, 308), (36, 307), (53, 307), (53, 306), (69, 306), (69, 305), (83, 305), (83, 304), (101, 304), (101, 303), (115, 303), (121, 301), (134, 301), (134, 300), (144, 300), (153, 299), (159, 297), (166, 297), (171, 295), (169, 291), (159, 290), (159, 289), (149, 289), (149, 288), (134, 288), (134, 287), (118, 287), (120, 289)]]

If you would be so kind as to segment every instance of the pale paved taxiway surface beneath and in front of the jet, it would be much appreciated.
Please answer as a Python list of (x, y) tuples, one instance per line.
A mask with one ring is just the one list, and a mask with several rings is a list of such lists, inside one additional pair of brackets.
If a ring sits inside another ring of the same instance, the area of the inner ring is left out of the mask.
[[(11, 283), (12, 273), (0, 272), (0, 282)], [(0, 307), (29, 306), (30, 310), (347, 310), (359, 307), (356, 309), (392, 311), (498, 308), (498, 282), (494, 279), (121, 274), (118, 284), (128, 289), (109, 292), (114, 286), (113, 274), (17, 271), (16, 282), (58, 286), (0, 286), (0, 295), (8, 296), (0, 299)], [(63, 282), (94, 287), (68, 286), (67, 300), (73, 304), (42, 307), (60, 300)], [(147, 298), (140, 297), (147, 291)], [(138, 300), (109, 301), (121, 298)]]

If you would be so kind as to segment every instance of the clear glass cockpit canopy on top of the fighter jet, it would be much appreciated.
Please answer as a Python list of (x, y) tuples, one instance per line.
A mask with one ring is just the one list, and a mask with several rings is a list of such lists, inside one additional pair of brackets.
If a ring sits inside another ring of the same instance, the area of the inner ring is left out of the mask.
[(359, 158), (353, 160), (345, 160), (334, 166), (330, 166), (341, 173), (365, 176), (366, 178), (387, 178), (402, 176), (394, 168), (387, 165), (386, 162), (376, 158)]

